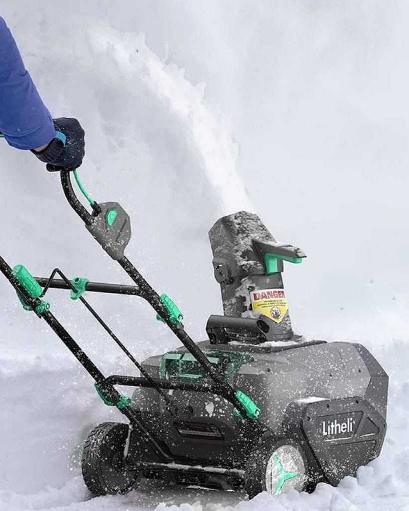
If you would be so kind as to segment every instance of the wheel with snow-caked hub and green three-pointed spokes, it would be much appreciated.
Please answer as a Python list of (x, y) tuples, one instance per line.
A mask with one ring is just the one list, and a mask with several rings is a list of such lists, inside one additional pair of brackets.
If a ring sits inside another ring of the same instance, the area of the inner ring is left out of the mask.
[(261, 492), (279, 495), (290, 487), (301, 492), (307, 476), (305, 454), (296, 442), (268, 438), (247, 460), (245, 490), (250, 499)]

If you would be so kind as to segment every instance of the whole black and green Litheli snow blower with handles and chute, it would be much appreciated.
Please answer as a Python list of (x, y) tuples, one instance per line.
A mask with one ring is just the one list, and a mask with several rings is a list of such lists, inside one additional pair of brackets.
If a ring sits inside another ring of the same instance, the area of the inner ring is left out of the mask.
[[(65, 196), (85, 227), (133, 285), (67, 278), (55, 269), (35, 278), (0, 258), (0, 269), (27, 310), (46, 321), (95, 381), (103, 402), (127, 422), (95, 427), (83, 447), (82, 473), (93, 495), (124, 493), (140, 478), (244, 490), (250, 497), (292, 487), (336, 485), (376, 458), (386, 431), (388, 376), (351, 342), (306, 341), (293, 333), (282, 281), (283, 263), (304, 252), (277, 243), (257, 215), (239, 212), (210, 230), (214, 274), (224, 316), (210, 316), (209, 339), (195, 343), (182, 313), (160, 296), (127, 259), (130, 218), (117, 202), (79, 201), (71, 173)], [(100, 323), (140, 376), (106, 377), (50, 311), (44, 295), (66, 289)], [(183, 347), (139, 363), (84, 298), (85, 292), (139, 296)], [(118, 386), (133, 387), (132, 397)]]

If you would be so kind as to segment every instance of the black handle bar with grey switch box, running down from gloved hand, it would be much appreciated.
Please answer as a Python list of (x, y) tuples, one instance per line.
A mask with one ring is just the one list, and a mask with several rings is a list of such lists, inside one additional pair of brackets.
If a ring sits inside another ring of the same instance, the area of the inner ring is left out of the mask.
[[(77, 171), (74, 172), (74, 176), (77, 183), (81, 183)], [(193, 355), (205, 369), (206, 373), (211, 376), (218, 386), (220, 394), (233, 404), (242, 417), (250, 420), (258, 419), (260, 409), (254, 401), (244, 392), (234, 390), (230, 383), (211, 364), (200, 348), (184, 331), (181, 322), (183, 316), (173, 301), (164, 294), (159, 296), (126, 258), (124, 252), (131, 239), (131, 222), (129, 215), (122, 206), (117, 202), (97, 203), (87, 192), (84, 193), (85, 188), (81, 183), (79, 187), (92, 207), (92, 214), (90, 214), (77, 198), (71, 182), (71, 173), (61, 172), (60, 177), (65, 197), (71, 207), (73, 207), (77, 215), (84, 221), (85, 227), (95, 240), (98, 241), (114, 261), (117, 261), (136, 284), (137, 294), (145, 299), (156, 311), (157, 319), (160, 319), (172, 330), (186, 350)]]

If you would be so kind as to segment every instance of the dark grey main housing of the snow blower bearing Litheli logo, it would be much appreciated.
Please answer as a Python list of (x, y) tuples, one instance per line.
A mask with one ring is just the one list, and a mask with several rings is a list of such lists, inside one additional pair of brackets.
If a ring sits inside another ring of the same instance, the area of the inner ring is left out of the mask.
[[(224, 364), (233, 386), (257, 396), (260, 420), (270, 434), (302, 447), (315, 484), (338, 484), (379, 455), (388, 377), (362, 345), (312, 342), (281, 350), (248, 345), (215, 349), (207, 341), (199, 345), (209, 360)], [(233, 358), (240, 359), (235, 367)], [(184, 350), (150, 357), (142, 365), (154, 378), (206, 380)], [(189, 464), (245, 469), (248, 453), (261, 437), (231, 403), (212, 393), (176, 390), (171, 397), (176, 416), (152, 389), (137, 389), (132, 404), (174, 456)]]

